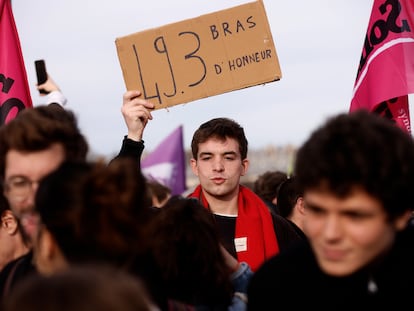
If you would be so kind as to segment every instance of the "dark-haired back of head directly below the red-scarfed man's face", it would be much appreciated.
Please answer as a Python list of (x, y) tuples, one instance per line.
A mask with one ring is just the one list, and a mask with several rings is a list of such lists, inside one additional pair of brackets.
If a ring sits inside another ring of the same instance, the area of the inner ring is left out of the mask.
[(150, 227), (151, 246), (170, 298), (229, 303), (230, 271), (214, 216), (196, 199), (173, 196)]

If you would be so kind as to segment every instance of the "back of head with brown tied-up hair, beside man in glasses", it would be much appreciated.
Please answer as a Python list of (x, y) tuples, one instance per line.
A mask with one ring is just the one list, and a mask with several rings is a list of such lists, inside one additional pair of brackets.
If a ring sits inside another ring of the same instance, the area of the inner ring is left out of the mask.
[(106, 262), (125, 266), (141, 249), (149, 217), (145, 179), (133, 161), (64, 162), (45, 176), (36, 194), (40, 230), (34, 243), (38, 270)]

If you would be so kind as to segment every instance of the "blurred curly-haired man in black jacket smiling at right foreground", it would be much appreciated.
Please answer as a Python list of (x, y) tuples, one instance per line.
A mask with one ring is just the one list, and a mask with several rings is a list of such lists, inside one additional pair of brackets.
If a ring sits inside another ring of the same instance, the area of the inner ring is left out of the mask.
[(334, 116), (317, 128), (295, 163), (308, 241), (256, 272), (248, 310), (284, 303), (292, 310), (411, 305), (413, 160), (412, 137), (365, 110)]

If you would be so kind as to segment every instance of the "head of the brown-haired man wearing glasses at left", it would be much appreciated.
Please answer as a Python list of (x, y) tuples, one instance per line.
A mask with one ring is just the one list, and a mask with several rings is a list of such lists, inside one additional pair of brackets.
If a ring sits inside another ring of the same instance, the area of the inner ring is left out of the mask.
[(4, 194), (29, 235), (39, 180), (65, 159), (84, 160), (87, 152), (75, 115), (59, 105), (25, 109), (0, 128)]

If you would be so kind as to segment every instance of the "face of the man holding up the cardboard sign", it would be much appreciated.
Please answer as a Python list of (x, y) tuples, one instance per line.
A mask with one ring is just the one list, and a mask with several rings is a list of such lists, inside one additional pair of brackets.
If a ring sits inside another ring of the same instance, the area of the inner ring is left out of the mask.
[(207, 200), (209, 196), (228, 199), (238, 194), (240, 177), (247, 172), (248, 160), (241, 159), (235, 139), (210, 138), (198, 145), (197, 160), (191, 159), (191, 168)]

